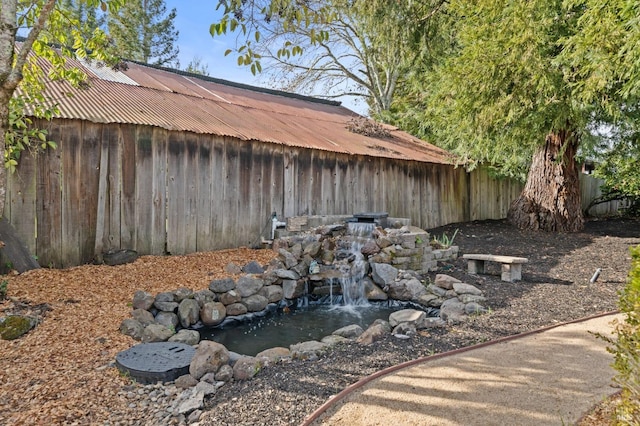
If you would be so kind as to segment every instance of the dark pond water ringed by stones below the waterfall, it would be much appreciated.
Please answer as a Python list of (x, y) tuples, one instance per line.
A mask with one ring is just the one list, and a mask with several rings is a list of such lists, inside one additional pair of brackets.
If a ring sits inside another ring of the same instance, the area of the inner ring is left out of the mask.
[(309, 340), (321, 340), (335, 330), (357, 324), (366, 329), (377, 319), (402, 309), (425, 311), (438, 316), (439, 310), (412, 302), (389, 300), (359, 305), (343, 305), (342, 296), (320, 299), (299, 298), (295, 302), (270, 304), (257, 314), (228, 317), (216, 327), (201, 327), (201, 340), (212, 340), (228, 350), (255, 356), (265, 349), (286, 347)]

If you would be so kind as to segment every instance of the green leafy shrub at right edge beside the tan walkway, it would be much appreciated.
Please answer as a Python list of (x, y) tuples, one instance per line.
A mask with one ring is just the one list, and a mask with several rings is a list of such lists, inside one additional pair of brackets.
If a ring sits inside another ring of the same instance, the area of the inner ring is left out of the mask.
[(616, 424), (640, 424), (640, 246), (633, 257), (629, 282), (620, 296), (625, 321), (616, 328), (617, 339), (608, 339), (614, 354), (615, 380), (622, 386), (622, 401), (616, 411)]

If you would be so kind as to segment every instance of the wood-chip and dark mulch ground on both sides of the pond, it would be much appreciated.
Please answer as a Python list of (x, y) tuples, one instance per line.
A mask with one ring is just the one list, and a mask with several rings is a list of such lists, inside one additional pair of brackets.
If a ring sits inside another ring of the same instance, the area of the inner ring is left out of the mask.
[[(584, 232), (518, 231), (504, 221), (472, 222), (431, 230), (451, 236), (461, 253), (522, 256), (522, 282), (494, 275), (470, 276), (466, 262), (445, 263), (442, 273), (481, 288), (491, 312), (410, 340), (387, 338), (371, 346), (346, 344), (314, 362), (294, 361), (264, 369), (253, 380), (225, 385), (207, 401), (203, 425), (300, 424), (331, 395), (380, 369), (420, 356), (569, 321), (617, 308), (631, 257), (640, 244), (640, 221), (589, 221)], [(86, 265), (41, 269), (2, 277), (8, 296), (25, 306), (44, 306), (43, 320), (15, 341), (0, 341), (0, 423), (145, 424), (140, 409), (119, 395), (131, 385), (112, 363), (130, 346), (119, 333), (136, 290), (206, 288), (228, 276), (225, 266), (250, 260), (264, 264), (267, 250), (227, 250), (190, 256), (144, 256), (116, 267)], [(589, 283), (596, 268), (601, 274)], [(435, 276), (431, 274), (430, 279)], [(11, 301), (3, 311), (15, 309)], [(28, 308), (25, 308), (28, 309)]]

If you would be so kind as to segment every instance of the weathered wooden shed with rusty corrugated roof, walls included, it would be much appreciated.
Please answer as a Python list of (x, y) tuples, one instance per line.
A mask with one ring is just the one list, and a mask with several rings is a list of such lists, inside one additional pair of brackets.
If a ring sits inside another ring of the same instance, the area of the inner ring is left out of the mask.
[[(48, 82), (58, 149), (23, 156), (5, 214), (43, 266), (106, 250), (253, 246), (271, 215), (385, 211), (425, 229), (506, 215), (521, 186), (339, 103), (130, 63)], [(371, 126), (377, 136), (350, 130)]]

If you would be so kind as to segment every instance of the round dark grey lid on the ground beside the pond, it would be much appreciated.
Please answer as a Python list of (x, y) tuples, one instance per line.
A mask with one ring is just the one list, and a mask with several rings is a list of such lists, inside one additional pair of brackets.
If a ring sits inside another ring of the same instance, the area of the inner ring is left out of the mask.
[(142, 343), (116, 355), (116, 366), (139, 383), (171, 382), (189, 373), (195, 352), (184, 343)]

